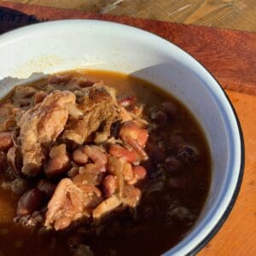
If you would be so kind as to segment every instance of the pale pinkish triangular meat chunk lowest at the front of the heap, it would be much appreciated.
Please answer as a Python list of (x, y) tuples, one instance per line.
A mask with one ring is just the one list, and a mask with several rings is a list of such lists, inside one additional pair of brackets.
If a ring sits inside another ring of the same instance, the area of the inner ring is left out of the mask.
[(73, 221), (90, 216), (88, 206), (95, 195), (100, 197), (100, 190), (94, 186), (77, 186), (69, 178), (63, 178), (57, 185), (55, 193), (48, 204), (46, 220), (47, 228), (55, 230), (67, 228)]

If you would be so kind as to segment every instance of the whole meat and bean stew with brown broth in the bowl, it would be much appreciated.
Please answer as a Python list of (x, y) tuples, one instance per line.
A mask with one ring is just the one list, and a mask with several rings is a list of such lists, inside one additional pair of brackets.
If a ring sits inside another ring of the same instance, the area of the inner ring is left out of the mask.
[(159, 255), (211, 180), (189, 110), (120, 73), (73, 71), (0, 102), (0, 255)]

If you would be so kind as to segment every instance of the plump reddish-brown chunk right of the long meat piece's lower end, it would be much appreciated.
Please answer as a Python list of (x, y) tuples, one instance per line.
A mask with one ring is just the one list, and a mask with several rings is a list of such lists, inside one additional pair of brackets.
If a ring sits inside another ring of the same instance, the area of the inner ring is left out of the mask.
[(49, 152), (49, 162), (44, 166), (44, 173), (48, 177), (55, 177), (67, 171), (70, 163), (66, 144), (54, 146)]

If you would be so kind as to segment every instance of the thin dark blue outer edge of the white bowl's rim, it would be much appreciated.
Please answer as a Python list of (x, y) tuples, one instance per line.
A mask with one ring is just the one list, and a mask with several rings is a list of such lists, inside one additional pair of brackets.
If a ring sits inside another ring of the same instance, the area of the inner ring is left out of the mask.
[[(70, 20), (70, 19), (67, 19), (67, 20)], [(80, 19), (80, 20), (94, 20), (94, 19)], [(43, 21), (43, 22), (38, 22), (36, 24), (46, 23), (46, 22), (50, 23), (50, 22), (54, 22), (54, 21), (61, 21), (61, 20), (47, 20), (47, 21)], [(119, 25), (122, 25), (122, 26), (130, 26), (130, 25), (122, 24), (122, 23), (115, 22), (115, 21), (109, 21), (109, 20), (99, 20), (99, 21), (105, 21), (105, 22), (109, 22), (109, 23), (116, 23), (116, 24), (119, 24)], [(26, 26), (33, 26), (33, 25), (36, 25), (36, 24), (26, 25)], [(19, 30), (20, 28), (23, 28), (23, 27), (25, 27), (25, 26), (21, 26), (21, 27), (12, 29), (9, 32)], [(207, 69), (207, 67), (205, 67), (203, 64), (201, 64), (200, 61), (197, 61), (196, 58), (193, 55), (190, 55), (187, 51), (185, 51), (184, 49), (179, 47), (177, 44), (172, 43), (172, 41), (169, 41), (166, 38), (162, 38), (159, 35), (154, 34), (153, 32), (148, 32), (148, 31), (144, 30), (143, 28), (139, 28), (137, 26), (131, 26), (131, 27), (134, 27), (137, 30), (141, 30), (143, 32), (147, 32), (149, 34), (153, 34), (154, 36), (156, 36), (158, 38), (161, 38), (162, 40), (165, 40), (166, 42), (175, 45), (178, 49), (181, 49), (185, 54), (192, 57), (199, 65), (201, 65), (201, 67), (203, 67), (208, 73), (210, 73), (210, 75), (212, 76), (212, 79), (215, 80), (215, 82), (218, 84), (219, 88), (223, 91), (224, 96), (225, 96), (226, 100), (229, 102), (230, 107), (232, 109), (232, 112), (234, 113), (234, 116), (235, 116), (235, 119), (236, 119), (236, 125), (238, 127), (240, 143), (241, 143), (241, 164), (240, 164), (239, 176), (237, 178), (236, 189), (235, 189), (235, 191), (232, 195), (232, 198), (230, 200), (230, 203), (229, 203), (228, 207), (226, 208), (222, 217), (218, 220), (218, 223), (215, 225), (215, 227), (212, 228), (212, 230), (208, 233), (208, 235), (198, 245), (196, 245), (189, 253), (186, 254), (186, 255), (195, 255), (196, 253), (200, 252), (201, 249), (203, 247), (205, 247), (209, 241), (212, 240), (212, 237), (215, 236), (218, 233), (218, 230), (220, 230), (220, 228), (224, 224), (225, 220), (229, 217), (230, 212), (231, 212), (232, 208), (235, 205), (236, 198), (237, 198), (237, 196), (239, 194), (239, 191), (241, 189), (241, 181), (242, 181), (242, 177), (243, 177), (243, 174), (244, 174), (244, 165), (245, 165), (245, 146), (244, 146), (244, 139), (243, 139), (243, 135), (242, 135), (242, 131), (241, 131), (241, 123), (240, 123), (240, 121), (237, 117), (236, 110), (235, 110), (234, 106), (232, 105), (229, 96), (227, 96), (226, 92), (224, 91), (224, 88), (218, 83), (218, 80), (212, 75), (212, 73)], [(3, 32), (3, 34), (1, 34), (1, 36), (4, 35), (4, 34), (7, 34), (9, 32)]]

